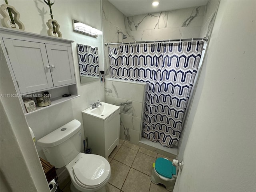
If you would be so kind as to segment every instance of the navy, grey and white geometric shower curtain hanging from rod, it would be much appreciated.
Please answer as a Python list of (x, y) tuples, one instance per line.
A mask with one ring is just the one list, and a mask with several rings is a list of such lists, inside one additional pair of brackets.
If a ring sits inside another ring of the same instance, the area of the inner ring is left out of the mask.
[(109, 48), (112, 78), (148, 84), (143, 137), (168, 147), (179, 141), (203, 44), (192, 41)]

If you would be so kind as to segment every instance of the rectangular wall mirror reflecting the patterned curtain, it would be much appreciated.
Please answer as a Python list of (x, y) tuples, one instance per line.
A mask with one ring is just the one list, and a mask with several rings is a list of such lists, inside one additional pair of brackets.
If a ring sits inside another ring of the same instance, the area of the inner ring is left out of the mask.
[(99, 76), (99, 54), (97, 47), (76, 44), (80, 75)]

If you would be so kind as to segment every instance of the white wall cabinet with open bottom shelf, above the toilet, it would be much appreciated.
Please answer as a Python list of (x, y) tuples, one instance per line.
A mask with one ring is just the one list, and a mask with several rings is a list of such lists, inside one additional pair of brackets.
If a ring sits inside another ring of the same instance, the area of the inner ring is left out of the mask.
[[(22, 99), (36, 103), (35, 96), (44, 91), (52, 95), (52, 105), (78, 96), (72, 42), (1, 27), (1, 46), (22, 106)], [(63, 94), (72, 96), (62, 98)]]

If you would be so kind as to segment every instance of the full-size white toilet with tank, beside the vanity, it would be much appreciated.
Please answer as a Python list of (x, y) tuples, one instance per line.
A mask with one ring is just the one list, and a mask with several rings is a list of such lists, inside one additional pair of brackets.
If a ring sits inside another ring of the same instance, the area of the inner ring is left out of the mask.
[(66, 167), (72, 192), (106, 192), (111, 175), (108, 160), (81, 151), (81, 123), (72, 120), (37, 141), (55, 168)]

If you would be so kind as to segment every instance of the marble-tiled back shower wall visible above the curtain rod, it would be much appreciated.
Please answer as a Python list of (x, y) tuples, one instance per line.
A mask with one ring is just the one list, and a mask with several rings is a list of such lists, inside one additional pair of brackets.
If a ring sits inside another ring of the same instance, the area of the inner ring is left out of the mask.
[(126, 32), (132, 41), (199, 38), (204, 10), (205, 6), (200, 6), (130, 16)]

